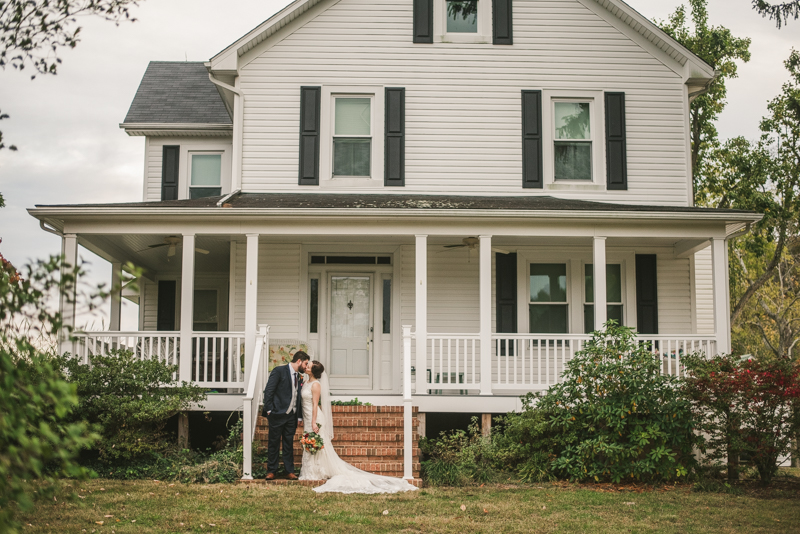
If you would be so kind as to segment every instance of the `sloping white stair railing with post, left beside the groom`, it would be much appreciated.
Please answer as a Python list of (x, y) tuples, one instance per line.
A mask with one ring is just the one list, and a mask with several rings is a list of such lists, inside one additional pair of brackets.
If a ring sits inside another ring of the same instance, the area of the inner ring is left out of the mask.
[(264, 395), (264, 386), (267, 383), (267, 367), (269, 360), (269, 326), (260, 325), (256, 335), (256, 344), (253, 350), (253, 362), (250, 365), (250, 374), (247, 377), (242, 404), (242, 446), (244, 465), (242, 466), (242, 480), (253, 480), (253, 437), (258, 421), (258, 407)]

